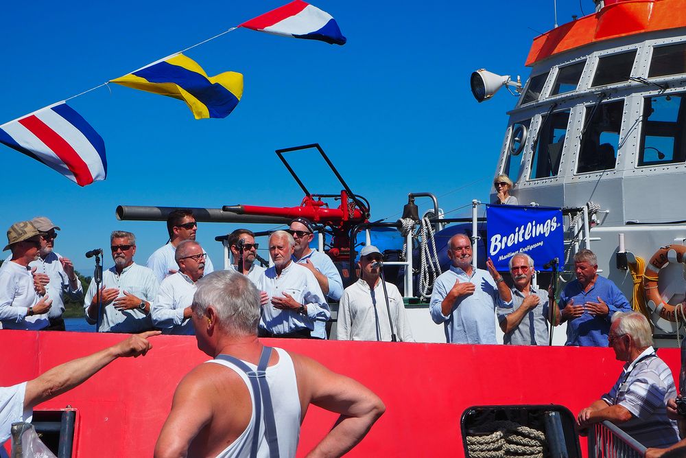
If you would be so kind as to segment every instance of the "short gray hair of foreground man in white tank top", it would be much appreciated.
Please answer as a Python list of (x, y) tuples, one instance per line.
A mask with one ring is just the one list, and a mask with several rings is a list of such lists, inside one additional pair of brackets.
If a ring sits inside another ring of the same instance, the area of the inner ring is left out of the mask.
[(222, 330), (230, 336), (257, 334), (259, 292), (248, 277), (234, 271), (216, 271), (199, 279), (197, 285), (191, 305), (194, 312), (202, 317), (213, 306)]

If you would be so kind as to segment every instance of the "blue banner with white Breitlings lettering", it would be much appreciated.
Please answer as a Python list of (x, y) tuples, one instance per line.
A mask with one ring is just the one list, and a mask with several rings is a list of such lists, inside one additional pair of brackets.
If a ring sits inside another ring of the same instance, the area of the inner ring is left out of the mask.
[(537, 271), (554, 257), (563, 262), (562, 210), (554, 207), (486, 205), (488, 256), (499, 271), (509, 271), (510, 257), (522, 251), (534, 259)]

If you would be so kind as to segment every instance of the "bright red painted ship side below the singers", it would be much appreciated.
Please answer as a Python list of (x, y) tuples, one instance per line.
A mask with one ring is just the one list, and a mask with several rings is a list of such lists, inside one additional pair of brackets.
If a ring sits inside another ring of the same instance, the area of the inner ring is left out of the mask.
[[(0, 385), (34, 378), (125, 336), (1, 331)], [(38, 409), (78, 411), (75, 457), (149, 457), (179, 380), (209, 359), (191, 336), (157, 336), (145, 357), (123, 358), (81, 387)], [(562, 404), (573, 413), (613, 385), (621, 365), (613, 350), (421, 343), (281, 341), (379, 394), (386, 414), (350, 456), (462, 457), (460, 417), (483, 404)], [(659, 355), (678, 376), (678, 350)], [(311, 407), (298, 456), (327, 433), (335, 415)], [(585, 453), (585, 451), (584, 451)]]

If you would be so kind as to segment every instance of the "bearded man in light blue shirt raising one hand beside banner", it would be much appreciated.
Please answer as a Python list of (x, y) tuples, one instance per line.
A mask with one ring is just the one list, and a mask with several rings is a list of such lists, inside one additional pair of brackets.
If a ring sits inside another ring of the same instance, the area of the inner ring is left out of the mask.
[(471, 240), (464, 234), (450, 239), (448, 257), (453, 265), (434, 283), (431, 318), (443, 323), (448, 343), (495, 345), (495, 307), (512, 307), (510, 288), (490, 260), (486, 262), (490, 274), (472, 267)]

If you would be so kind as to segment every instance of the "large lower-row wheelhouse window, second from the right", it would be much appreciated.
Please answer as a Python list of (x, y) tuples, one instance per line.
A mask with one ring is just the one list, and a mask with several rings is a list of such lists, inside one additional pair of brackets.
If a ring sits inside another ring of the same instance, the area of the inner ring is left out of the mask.
[(624, 100), (586, 108), (577, 173), (615, 168), (623, 109)]

